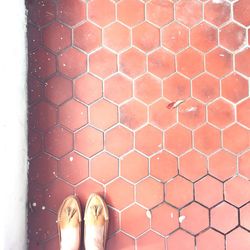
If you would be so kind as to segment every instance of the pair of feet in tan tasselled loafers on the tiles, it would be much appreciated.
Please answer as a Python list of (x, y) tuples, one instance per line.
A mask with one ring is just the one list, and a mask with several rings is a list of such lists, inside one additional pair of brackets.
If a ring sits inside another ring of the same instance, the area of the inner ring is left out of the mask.
[[(91, 194), (84, 212), (85, 250), (104, 250), (108, 233), (108, 208), (101, 196)], [(81, 205), (77, 196), (67, 197), (58, 211), (61, 250), (79, 250), (82, 239)]]

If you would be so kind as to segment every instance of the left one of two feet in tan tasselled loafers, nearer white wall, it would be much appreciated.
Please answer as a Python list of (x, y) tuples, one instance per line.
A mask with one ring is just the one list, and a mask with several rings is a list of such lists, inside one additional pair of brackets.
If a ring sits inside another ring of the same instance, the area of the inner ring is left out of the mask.
[(81, 206), (76, 196), (67, 197), (57, 218), (61, 250), (79, 250), (81, 244)]

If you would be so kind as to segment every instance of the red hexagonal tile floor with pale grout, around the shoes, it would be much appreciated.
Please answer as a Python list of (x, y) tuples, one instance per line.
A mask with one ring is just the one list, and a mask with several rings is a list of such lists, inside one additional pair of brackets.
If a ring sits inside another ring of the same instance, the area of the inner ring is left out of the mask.
[(91, 192), (108, 250), (249, 249), (249, 0), (26, 2), (29, 250)]

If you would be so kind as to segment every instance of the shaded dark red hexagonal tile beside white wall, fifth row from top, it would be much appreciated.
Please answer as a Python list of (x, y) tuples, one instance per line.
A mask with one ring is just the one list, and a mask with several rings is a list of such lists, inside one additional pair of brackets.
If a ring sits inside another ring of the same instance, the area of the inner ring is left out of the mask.
[(29, 111), (29, 125), (32, 128), (47, 130), (57, 123), (57, 110), (47, 102), (39, 102)]

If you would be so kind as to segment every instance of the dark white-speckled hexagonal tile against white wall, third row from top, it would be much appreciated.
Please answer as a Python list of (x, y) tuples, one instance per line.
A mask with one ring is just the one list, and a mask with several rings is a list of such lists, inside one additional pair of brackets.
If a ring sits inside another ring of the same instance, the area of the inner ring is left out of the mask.
[(56, 59), (50, 52), (39, 48), (29, 53), (29, 73), (38, 78), (48, 78), (56, 72)]

